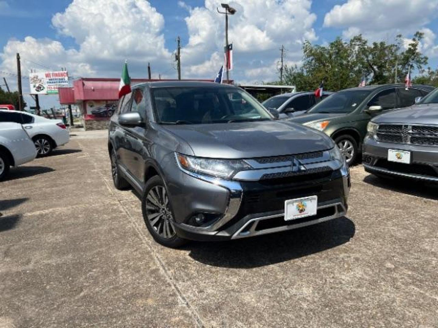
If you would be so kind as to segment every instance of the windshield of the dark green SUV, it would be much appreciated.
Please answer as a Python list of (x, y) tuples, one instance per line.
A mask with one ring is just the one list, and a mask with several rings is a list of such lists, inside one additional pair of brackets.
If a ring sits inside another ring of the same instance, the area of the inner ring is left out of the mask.
[(312, 107), (308, 113), (350, 113), (371, 93), (371, 90), (339, 91)]

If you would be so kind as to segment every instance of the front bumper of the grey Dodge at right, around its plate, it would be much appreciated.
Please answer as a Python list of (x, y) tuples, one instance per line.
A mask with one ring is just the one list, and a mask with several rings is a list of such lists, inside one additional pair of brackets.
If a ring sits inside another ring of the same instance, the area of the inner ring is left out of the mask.
[[(411, 164), (388, 161), (388, 150), (411, 152)], [(418, 181), (438, 182), (438, 147), (379, 142), (367, 136), (363, 146), (365, 171)]]

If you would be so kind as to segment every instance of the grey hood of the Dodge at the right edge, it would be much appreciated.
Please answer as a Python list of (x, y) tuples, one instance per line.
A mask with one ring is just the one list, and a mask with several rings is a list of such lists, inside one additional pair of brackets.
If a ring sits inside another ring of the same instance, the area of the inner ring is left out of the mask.
[(395, 109), (391, 112), (378, 115), (376, 123), (406, 123), (438, 125), (438, 104), (420, 104)]

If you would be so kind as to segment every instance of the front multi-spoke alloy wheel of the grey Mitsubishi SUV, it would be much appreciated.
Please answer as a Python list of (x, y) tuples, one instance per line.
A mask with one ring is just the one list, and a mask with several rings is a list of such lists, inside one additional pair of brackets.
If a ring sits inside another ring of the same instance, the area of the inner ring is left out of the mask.
[(160, 237), (170, 239), (175, 236), (169, 197), (163, 186), (157, 185), (149, 190), (146, 197), (146, 216), (151, 227)]

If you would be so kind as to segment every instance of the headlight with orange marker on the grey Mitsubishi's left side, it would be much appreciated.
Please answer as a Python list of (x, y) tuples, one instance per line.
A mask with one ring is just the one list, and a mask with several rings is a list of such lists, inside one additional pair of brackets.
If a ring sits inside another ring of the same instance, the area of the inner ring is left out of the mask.
[(239, 171), (250, 170), (251, 165), (243, 160), (201, 158), (176, 153), (178, 164), (184, 170), (213, 177), (230, 179)]

